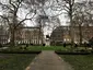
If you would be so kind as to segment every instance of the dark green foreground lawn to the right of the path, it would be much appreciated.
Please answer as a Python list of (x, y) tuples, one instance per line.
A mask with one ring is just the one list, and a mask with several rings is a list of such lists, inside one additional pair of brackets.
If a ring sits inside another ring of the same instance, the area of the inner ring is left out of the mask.
[(93, 70), (93, 55), (60, 55), (74, 70)]

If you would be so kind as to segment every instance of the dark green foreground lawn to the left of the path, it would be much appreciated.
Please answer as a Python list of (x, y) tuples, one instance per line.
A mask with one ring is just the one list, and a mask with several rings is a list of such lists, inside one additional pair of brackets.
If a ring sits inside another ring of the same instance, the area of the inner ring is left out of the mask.
[(25, 70), (36, 54), (0, 54), (0, 70)]

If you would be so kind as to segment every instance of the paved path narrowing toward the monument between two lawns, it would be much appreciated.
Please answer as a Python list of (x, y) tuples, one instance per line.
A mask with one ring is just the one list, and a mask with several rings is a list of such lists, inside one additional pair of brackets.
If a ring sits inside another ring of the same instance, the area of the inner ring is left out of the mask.
[(42, 51), (25, 70), (73, 70), (55, 51)]

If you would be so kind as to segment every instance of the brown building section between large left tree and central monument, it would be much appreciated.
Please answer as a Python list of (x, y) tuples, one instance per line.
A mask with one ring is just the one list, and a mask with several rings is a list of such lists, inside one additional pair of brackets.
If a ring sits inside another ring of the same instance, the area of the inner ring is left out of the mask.
[(40, 45), (44, 43), (44, 35), (39, 27), (22, 27), (15, 33), (15, 42), (19, 44)]

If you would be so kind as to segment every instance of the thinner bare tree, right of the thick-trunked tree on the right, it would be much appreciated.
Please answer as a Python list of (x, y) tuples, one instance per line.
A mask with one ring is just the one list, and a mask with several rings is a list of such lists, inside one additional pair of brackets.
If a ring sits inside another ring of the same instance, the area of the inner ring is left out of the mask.
[(83, 3), (75, 3), (75, 12), (73, 16), (74, 26), (79, 26), (79, 36), (80, 36), (80, 45), (82, 44), (82, 24), (84, 23), (84, 13), (82, 11), (84, 4)]

